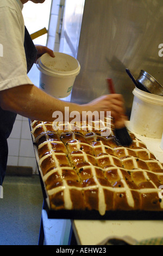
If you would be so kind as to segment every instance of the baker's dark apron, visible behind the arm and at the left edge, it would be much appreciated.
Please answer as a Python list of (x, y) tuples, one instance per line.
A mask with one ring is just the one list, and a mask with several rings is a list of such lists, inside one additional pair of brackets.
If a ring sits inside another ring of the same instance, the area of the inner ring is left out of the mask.
[[(32, 68), (35, 59), (37, 50), (33, 44), (33, 41), (25, 27), (24, 33), (24, 50), (26, 52), (27, 59), (27, 73)], [(3, 183), (5, 176), (5, 170), (7, 168), (8, 160), (8, 143), (7, 139), (10, 136), (12, 127), (16, 119), (16, 113), (10, 111), (4, 111), (0, 107), (0, 185)]]

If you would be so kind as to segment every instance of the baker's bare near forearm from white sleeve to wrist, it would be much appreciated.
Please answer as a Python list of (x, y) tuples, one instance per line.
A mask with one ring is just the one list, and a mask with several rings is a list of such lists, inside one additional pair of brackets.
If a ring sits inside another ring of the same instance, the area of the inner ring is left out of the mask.
[(64, 114), (65, 106), (70, 107), (70, 111), (82, 112), (79, 105), (55, 99), (30, 84), (2, 91), (0, 101), (4, 110), (36, 120), (53, 121), (53, 112), (61, 111)]

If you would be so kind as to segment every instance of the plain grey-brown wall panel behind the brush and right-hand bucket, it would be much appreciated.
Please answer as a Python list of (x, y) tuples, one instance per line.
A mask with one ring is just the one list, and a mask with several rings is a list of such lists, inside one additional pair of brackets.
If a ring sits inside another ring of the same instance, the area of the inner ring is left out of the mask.
[(85, 0), (77, 56), (81, 69), (71, 101), (87, 103), (108, 94), (109, 77), (130, 115), (135, 84), (126, 68), (135, 78), (145, 70), (163, 84), (162, 14), (162, 0)]

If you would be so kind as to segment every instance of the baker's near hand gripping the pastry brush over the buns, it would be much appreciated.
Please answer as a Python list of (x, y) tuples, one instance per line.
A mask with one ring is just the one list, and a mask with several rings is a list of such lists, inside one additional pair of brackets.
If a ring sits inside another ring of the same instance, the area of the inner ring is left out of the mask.
[(90, 111), (111, 111), (111, 117), (115, 120), (125, 115), (124, 100), (121, 94), (109, 94), (98, 97), (97, 99), (83, 105)]

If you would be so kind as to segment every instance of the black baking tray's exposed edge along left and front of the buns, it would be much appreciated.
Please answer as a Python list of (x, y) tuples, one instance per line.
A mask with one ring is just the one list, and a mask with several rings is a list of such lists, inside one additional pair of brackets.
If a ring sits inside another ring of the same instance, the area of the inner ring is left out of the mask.
[[(31, 123), (29, 120), (30, 131)], [(33, 136), (32, 136), (33, 141)], [(70, 219), (70, 220), (163, 220), (163, 211), (141, 211), (141, 210), (116, 210), (106, 211), (105, 215), (99, 214), (96, 210), (52, 210), (49, 208), (48, 196), (45, 185), (42, 180), (40, 167), (38, 165), (39, 156), (37, 155), (37, 148), (34, 145), (34, 153), (36, 157), (37, 169), (40, 176), (40, 183), (43, 194), (43, 209), (46, 210), (48, 218), (55, 219)]]

